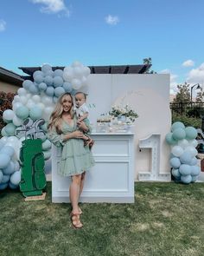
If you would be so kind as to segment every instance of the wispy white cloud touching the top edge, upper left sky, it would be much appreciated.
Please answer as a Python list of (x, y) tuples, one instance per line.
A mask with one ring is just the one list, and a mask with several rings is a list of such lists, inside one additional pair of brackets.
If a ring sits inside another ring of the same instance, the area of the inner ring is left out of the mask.
[(45, 13), (59, 13), (65, 11), (69, 15), (69, 10), (67, 9), (64, 0), (30, 0), (32, 3), (41, 3), (45, 6), (41, 7), (41, 12)]

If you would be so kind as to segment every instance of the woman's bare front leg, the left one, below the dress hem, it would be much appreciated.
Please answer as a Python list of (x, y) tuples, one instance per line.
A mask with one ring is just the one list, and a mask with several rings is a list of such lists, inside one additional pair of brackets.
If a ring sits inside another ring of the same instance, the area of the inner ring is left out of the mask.
[(72, 213), (78, 214), (78, 202), (80, 197), (81, 174), (72, 176), (72, 183), (69, 187), (69, 197), (73, 207)]

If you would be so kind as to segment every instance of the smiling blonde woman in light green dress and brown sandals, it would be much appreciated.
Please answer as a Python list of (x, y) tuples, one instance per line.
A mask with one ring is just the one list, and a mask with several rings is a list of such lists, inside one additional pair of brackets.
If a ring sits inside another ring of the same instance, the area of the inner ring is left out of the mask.
[[(80, 130), (79, 130), (80, 128)], [(48, 123), (48, 138), (57, 147), (62, 147), (59, 174), (71, 176), (69, 198), (72, 204), (71, 220), (73, 227), (80, 228), (82, 213), (78, 206), (80, 194), (83, 190), (86, 170), (93, 166), (94, 160), (88, 146), (85, 133), (90, 133), (91, 128), (84, 121), (77, 122), (73, 113), (72, 95), (61, 95)]]

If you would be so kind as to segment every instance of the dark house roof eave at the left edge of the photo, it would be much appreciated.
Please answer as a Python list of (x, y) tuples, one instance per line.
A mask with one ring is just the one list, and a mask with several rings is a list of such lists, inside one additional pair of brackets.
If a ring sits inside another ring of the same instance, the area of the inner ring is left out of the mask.
[(13, 71), (0, 67), (0, 81), (8, 82), (16, 86), (22, 86), (23, 80), (24, 79), (22, 79), (21, 75), (18, 75)]

